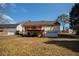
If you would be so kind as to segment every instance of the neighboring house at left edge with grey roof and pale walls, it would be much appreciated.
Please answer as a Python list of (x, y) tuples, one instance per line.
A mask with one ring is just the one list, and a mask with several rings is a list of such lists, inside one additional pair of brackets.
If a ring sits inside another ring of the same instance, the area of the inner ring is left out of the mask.
[(0, 35), (15, 35), (18, 24), (0, 24)]

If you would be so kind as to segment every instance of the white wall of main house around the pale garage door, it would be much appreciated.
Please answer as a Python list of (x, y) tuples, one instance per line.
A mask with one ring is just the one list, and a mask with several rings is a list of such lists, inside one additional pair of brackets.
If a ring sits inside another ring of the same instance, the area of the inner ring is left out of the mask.
[(45, 37), (58, 37), (58, 32), (60, 31), (59, 26), (43, 26), (42, 29), (45, 30), (43, 33)]

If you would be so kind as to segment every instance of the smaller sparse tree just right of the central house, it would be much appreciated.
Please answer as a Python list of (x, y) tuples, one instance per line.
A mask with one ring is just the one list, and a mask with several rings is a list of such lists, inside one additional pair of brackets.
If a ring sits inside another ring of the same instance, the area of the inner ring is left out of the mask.
[(69, 15), (62, 14), (58, 16), (57, 21), (63, 26), (63, 31), (65, 30), (65, 24), (69, 23)]

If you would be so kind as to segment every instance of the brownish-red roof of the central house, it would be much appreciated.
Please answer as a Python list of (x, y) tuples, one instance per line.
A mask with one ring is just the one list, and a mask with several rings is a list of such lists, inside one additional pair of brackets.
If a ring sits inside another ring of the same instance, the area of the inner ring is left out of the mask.
[(52, 25), (60, 25), (60, 23), (56, 21), (30, 21), (24, 22), (24, 26), (52, 26)]

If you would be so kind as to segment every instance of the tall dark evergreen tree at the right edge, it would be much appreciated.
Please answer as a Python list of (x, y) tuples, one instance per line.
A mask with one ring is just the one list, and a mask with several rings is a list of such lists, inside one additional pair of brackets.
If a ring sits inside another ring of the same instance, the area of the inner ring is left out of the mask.
[(79, 4), (75, 4), (70, 11), (70, 28), (79, 33)]

